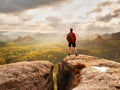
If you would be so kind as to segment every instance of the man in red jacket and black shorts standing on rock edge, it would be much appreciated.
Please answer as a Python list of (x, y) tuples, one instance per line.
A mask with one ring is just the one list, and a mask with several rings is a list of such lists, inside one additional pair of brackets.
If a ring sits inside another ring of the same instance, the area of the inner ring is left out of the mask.
[(73, 33), (73, 28), (70, 28), (70, 32), (67, 34), (66, 39), (68, 41), (68, 55), (70, 56), (72, 46), (74, 48), (75, 55), (78, 56), (76, 49), (76, 35)]

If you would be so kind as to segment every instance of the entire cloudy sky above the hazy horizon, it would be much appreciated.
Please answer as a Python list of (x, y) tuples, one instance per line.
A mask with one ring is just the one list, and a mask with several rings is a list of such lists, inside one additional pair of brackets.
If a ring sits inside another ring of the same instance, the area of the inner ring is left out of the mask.
[(0, 31), (120, 32), (120, 0), (0, 0)]

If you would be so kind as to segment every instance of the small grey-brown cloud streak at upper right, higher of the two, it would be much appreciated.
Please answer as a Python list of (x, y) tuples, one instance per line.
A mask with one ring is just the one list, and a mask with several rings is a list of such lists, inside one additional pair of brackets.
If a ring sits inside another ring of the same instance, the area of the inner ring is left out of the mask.
[(102, 11), (102, 8), (105, 7), (105, 6), (109, 6), (111, 5), (113, 2), (109, 2), (109, 1), (105, 1), (105, 2), (102, 2), (100, 4), (98, 4), (97, 8), (93, 9), (90, 13), (94, 13), (94, 12), (101, 12)]

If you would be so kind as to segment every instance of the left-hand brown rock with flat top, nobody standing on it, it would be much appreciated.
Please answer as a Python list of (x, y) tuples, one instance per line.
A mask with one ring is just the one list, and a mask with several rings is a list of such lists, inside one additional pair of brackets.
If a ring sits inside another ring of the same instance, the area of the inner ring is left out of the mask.
[(0, 90), (53, 90), (53, 64), (19, 62), (0, 66)]

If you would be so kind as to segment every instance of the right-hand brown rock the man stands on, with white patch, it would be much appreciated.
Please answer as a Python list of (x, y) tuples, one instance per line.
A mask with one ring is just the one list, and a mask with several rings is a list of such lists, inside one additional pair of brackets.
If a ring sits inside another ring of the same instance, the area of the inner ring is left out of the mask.
[(120, 90), (120, 63), (93, 56), (67, 56), (58, 65), (58, 90)]

